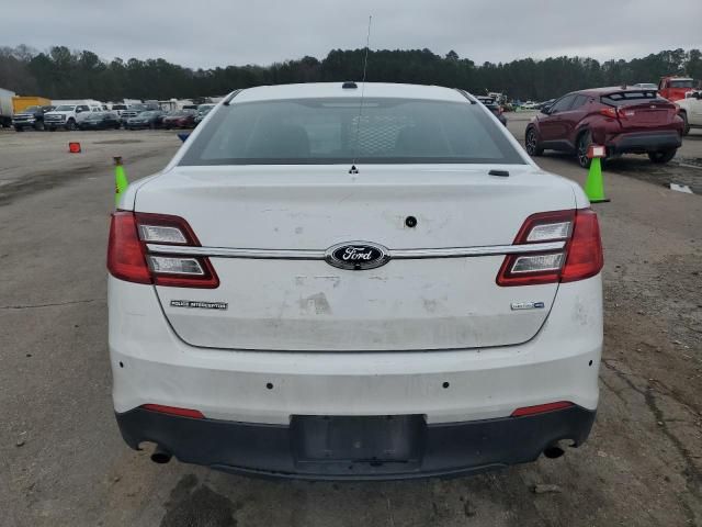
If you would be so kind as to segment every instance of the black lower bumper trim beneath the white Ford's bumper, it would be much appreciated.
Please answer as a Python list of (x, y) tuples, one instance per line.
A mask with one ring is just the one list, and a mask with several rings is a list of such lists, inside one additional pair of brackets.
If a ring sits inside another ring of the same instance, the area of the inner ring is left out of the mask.
[[(450, 424), (426, 424), (421, 416), (296, 416), (291, 426), (194, 419), (144, 408), (116, 414), (116, 418), (129, 447), (155, 442), (186, 463), (279, 478), (396, 480), (461, 475), (533, 461), (558, 440), (582, 444), (595, 412), (571, 406), (532, 416)], [(382, 418), (396, 422), (373, 424)], [(331, 421), (325, 428), (319, 419)], [(362, 447), (358, 459), (339, 439), (354, 434), (372, 444)], [(373, 448), (382, 453), (373, 456)]]

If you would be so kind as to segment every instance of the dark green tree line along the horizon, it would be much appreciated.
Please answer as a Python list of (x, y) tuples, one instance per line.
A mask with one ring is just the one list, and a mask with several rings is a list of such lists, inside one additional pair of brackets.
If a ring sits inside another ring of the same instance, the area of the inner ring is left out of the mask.
[[(38, 52), (20, 45), (0, 47), (0, 87), (49, 99), (193, 99), (260, 85), (360, 80), (364, 54), (364, 49), (333, 49), (321, 60), (306, 56), (269, 66), (192, 69), (162, 58), (104, 60), (90, 51), (54, 46)], [(380, 49), (369, 53), (366, 79), (441, 85), (476, 94), (489, 90), (542, 101), (584, 88), (657, 82), (670, 74), (702, 78), (702, 53), (673, 49), (632, 60), (562, 56), (476, 65), (455, 52), (441, 56), (429, 49)]]

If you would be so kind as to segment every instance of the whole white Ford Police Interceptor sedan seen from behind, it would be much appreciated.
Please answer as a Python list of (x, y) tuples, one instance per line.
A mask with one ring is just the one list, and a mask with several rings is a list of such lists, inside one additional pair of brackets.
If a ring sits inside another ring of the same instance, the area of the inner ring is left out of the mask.
[(602, 248), (580, 187), (465, 92), (363, 100), (359, 119), (352, 82), (234, 92), (121, 197), (109, 348), (132, 448), (406, 479), (588, 437)]

